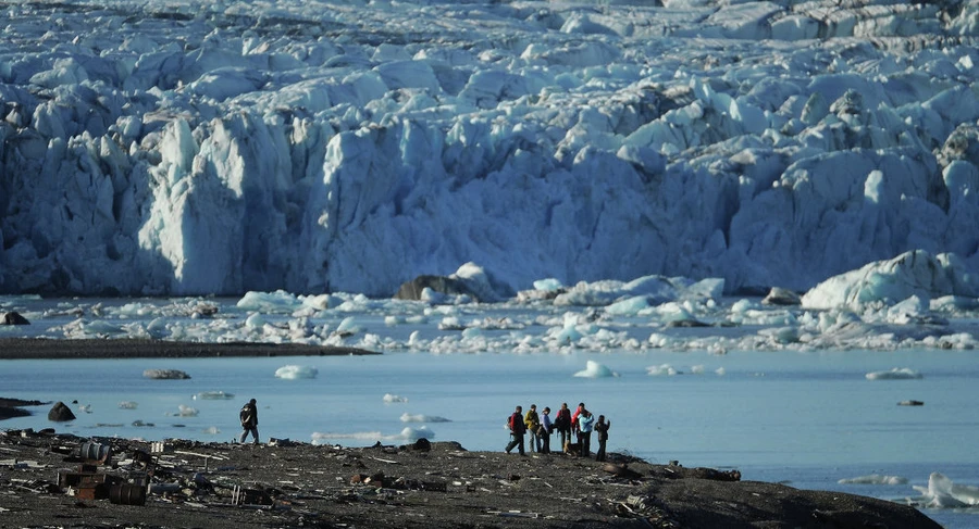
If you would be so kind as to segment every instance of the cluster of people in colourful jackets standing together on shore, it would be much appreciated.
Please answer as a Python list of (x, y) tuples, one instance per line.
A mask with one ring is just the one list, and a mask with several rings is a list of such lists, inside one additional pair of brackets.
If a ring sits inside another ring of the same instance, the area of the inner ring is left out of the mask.
[[(592, 455), (592, 432), (598, 433), (598, 452), (595, 454), (595, 461), (605, 461), (605, 444), (608, 441), (608, 429), (611, 421), (605, 419), (605, 415), (599, 415), (598, 420), (592, 415), (583, 402), (578, 404), (578, 408), (572, 413), (568, 408), (568, 403), (561, 404), (554, 419), (550, 418), (550, 408), (544, 407), (537, 413), (537, 405), (531, 404), (530, 410), (524, 415), (523, 406), (517, 406), (517, 410), (507, 419), (507, 428), (510, 430), (510, 442), (507, 444), (506, 452), (509, 454), (515, 448), (519, 450), (520, 455), (525, 455), (524, 436), (530, 433), (530, 450), (541, 454), (550, 453), (550, 436), (555, 431), (560, 434), (561, 450), (566, 453), (574, 454), (581, 457), (590, 457)], [(577, 438), (577, 449), (572, 443), (572, 436)]]

